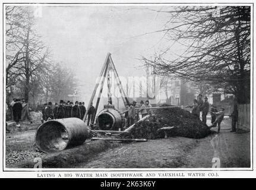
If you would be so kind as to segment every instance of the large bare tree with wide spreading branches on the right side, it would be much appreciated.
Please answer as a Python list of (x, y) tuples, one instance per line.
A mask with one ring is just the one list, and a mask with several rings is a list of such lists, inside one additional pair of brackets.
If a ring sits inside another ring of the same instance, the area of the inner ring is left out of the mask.
[(239, 103), (248, 102), (251, 8), (175, 7), (159, 12), (170, 20), (158, 32), (184, 51), (168, 48), (153, 59), (143, 57), (145, 64), (160, 75), (203, 81), (235, 94)]

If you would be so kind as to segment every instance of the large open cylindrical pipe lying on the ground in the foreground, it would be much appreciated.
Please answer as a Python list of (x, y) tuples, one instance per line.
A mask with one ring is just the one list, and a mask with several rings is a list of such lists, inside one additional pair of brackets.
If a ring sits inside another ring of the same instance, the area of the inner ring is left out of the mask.
[(78, 118), (55, 119), (37, 128), (35, 141), (39, 150), (53, 153), (83, 144), (89, 137), (86, 124)]

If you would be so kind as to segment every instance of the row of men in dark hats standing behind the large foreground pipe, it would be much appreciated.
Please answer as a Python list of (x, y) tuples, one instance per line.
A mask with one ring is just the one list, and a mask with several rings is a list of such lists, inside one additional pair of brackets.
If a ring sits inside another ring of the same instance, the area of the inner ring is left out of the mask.
[[(90, 125), (92, 116), (94, 115), (94, 106), (91, 103), (90, 109), (88, 110), (87, 116), (87, 125)], [(84, 102), (76, 101), (75, 104), (73, 102), (61, 100), (58, 103), (55, 103), (54, 107), (52, 102), (45, 103), (43, 109), (43, 121), (48, 121), (50, 119), (64, 119), (64, 118), (79, 118), (83, 119), (86, 114), (86, 106), (84, 106)]]

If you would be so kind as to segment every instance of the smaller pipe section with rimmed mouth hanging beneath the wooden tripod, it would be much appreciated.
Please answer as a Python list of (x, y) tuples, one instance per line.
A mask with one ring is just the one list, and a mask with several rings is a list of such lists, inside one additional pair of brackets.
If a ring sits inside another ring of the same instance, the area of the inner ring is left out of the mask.
[(118, 131), (124, 127), (124, 118), (116, 109), (103, 109), (97, 115), (97, 125), (101, 130)]

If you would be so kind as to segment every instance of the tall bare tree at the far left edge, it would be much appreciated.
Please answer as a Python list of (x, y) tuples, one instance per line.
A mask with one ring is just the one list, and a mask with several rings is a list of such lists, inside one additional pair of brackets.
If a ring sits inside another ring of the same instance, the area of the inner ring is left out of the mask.
[(34, 27), (31, 7), (7, 7), (7, 25), (7, 86), (23, 80), (28, 102), (31, 79), (46, 73), (50, 53)]

